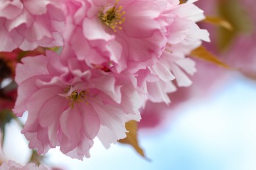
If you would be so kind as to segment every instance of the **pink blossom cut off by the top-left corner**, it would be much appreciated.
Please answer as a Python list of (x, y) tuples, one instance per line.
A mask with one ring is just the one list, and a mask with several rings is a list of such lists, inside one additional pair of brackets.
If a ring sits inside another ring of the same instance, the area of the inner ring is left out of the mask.
[(0, 51), (62, 46), (62, 11), (49, 0), (0, 1)]

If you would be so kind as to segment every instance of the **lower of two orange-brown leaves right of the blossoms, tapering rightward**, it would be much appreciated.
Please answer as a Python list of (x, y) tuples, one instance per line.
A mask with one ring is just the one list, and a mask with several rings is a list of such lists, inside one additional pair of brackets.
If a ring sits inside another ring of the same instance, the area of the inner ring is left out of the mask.
[(208, 52), (203, 46), (200, 46), (193, 50), (190, 53), (190, 56), (210, 61), (211, 63), (215, 63), (225, 68), (230, 68), (228, 65), (220, 61), (219, 58), (217, 58), (217, 56), (211, 54), (211, 52)]

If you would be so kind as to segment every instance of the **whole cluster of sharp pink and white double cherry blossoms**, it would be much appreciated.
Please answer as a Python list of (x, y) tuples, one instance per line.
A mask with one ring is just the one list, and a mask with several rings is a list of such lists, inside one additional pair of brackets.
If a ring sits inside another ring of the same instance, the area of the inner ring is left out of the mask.
[(0, 51), (58, 48), (16, 67), (16, 116), (30, 148), (89, 158), (98, 137), (109, 148), (140, 120), (146, 101), (169, 104), (190, 86), (195, 62), (185, 56), (206, 30), (203, 11), (179, 0), (3, 0)]

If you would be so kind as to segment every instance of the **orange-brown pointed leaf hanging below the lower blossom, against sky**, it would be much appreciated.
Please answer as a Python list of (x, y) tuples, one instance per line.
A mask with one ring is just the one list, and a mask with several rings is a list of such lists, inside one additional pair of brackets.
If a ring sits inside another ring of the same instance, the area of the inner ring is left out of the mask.
[(138, 154), (146, 158), (144, 151), (142, 150), (142, 148), (140, 148), (137, 139), (137, 122), (135, 120), (131, 120), (125, 124), (125, 127), (129, 132), (126, 133), (127, 137), (125, 139), (119, 140), (119, 143), (130, 144), (131, 146), (133, 146), (133, 148), (135, 148)]

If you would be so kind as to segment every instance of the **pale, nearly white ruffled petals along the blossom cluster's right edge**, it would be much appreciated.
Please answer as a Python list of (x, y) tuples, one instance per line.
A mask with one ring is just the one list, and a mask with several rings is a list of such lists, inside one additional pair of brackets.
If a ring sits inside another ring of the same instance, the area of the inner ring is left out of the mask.
[[(154, 65), (147, 67), (148, 71), (138, 71), (139, 86), (146, 88), (148, 99), (153, 102), (170, 103), (167, 93), (179, 87), (192, 84), (187, 75), (196, 73), (196, 63), (186, 58), (188, 54), (203, 41), (209, 41), (209, 33), (200, 29), (196, 21), (203, 18), (202, 10), (191, 3), (178, 5), (166, 15), (172, 16), (172, 22), (167, 27), (168, 41), (165, 50)], [(173, 84), (172, 80), (176, 83)]]

